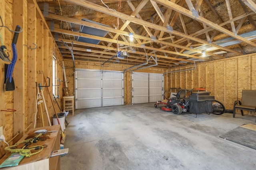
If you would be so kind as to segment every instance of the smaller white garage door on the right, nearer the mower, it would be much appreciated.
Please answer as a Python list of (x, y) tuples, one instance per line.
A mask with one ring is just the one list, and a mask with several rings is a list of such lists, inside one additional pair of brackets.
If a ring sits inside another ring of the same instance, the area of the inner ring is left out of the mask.
[(164, 95), (163, 89), (163, 74), (132, 73), (132, 104), (162, 100)]

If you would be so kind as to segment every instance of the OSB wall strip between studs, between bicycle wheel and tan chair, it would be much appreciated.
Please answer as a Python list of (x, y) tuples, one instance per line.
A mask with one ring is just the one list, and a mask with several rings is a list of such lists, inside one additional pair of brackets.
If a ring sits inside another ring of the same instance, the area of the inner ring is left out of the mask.
[(236, 81), (237, 81), (236, 59), (226, 61), (225, 64), (226, 64), (225, 107), (232, 108), (234, 105), (234, 101), (236, 101)]

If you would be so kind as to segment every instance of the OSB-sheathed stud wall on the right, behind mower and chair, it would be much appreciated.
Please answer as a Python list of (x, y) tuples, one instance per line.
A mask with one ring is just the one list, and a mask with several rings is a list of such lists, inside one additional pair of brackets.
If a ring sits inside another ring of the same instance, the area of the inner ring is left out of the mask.
[[(170, 69), (167, 72), (168, 82), (172, 88), (206, 88), (215, 99), (222, 102), (226, 109), (233, 109), (235, 100), (241, 100), (242, 90), (256, 90), (256, 54), (243, 55), (207, 63), (196, 64), (195, 70), (188, 70), (191, 66)], [(186, 80), (185, 85), (184, 81)]]

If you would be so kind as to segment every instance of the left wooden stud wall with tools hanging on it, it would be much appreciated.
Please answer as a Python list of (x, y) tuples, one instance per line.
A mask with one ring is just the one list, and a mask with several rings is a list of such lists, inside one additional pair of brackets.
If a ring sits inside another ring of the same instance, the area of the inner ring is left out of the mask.
[[(52, 53), (56, 54), (58, 63), (57, 76), (63, 80), (62, 70), (62, 55), (58, 50), (50, 29), (48, 28), (44, 17), (36, 4), (35, 0), (0, 0), (1, 11), (0, 15), (5, 26), (14, 30), (16, 25), (22, 27), (22, 32), (19, 33), (17, 41), (17, 61), (14, 66), (13, 78), (15, 82), (14, 91), (4, 91), (0, 88), (0, 126), (3, 126), (3, 133), (6, 141), (10, 145), (18, 141), (28, 129), (48, 126), (48, 119), (46, 111), (43, 108), (44, 119), (40, 115), (40, 106), (37, 106), (36, 96), (37, 87), (36, 82), (45, 85), (44, 76), (51, 78), (50, 93), (52, 93)], [(12, 60), (12, 32), (4, 27), (0, 27), (4, 44), (10, 54)], [(37, 45), (37, 49), (33, 45)], [(28, 45), (28, 47), (24, 46)], [(4, 86), (4, 64), (9, 64), (0, 60), (0, 84)], [(48, 84), (48, 82), (47, 82)], [(54, 114), (52, 103), (50, 102), (52, 95), (48, 94), (46, 88), (44, 90), (44, 97), (48, 108), (50, 119)], [(59, 88), (60, 98), (62, 98), (62, 86)], [(58, 101), (60, 104), (60, 101)], [(34, 122), (38, 107), (37, 122)], [(54, 102), (54, 107), (58, 111), (58, 106)], [(8, 109), (15, 109), (16, 111), (4, 111)], [(5, 143), (1, 142), (0, 157), (4, 154)]]

